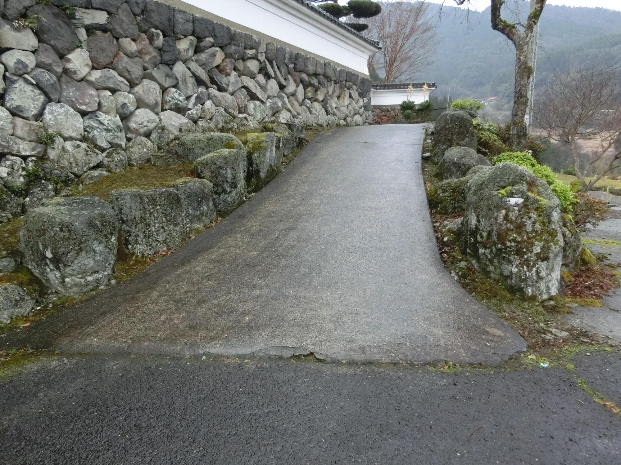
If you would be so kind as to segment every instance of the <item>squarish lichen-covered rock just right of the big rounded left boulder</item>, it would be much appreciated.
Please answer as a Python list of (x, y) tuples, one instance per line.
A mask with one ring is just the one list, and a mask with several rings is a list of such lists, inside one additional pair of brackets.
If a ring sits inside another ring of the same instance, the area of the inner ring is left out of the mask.
[(116, 190), (110, 193), (124, 236), (124, 246), (136, 255), (153, 255), (183, 244), (189, 233), (181, 195), (172, 189)]

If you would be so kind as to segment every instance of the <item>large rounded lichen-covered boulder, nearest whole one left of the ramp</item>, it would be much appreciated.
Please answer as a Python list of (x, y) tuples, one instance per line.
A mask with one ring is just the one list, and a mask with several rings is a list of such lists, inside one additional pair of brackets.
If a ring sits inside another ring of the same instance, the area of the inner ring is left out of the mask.
[(19, 233), (22, 262), (48, 288), (76, 296), (112, 273), (119, 224), (97, 197), (57, 197), (29, 211)]

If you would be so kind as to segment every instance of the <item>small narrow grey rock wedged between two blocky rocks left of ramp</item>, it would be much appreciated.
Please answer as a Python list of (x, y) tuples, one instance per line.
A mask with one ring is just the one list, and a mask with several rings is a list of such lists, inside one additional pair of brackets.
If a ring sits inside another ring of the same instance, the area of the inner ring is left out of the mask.
[(186, 177), (171, 185), (181, 196), (190, 228), (204, 228), (215, 220), (213, 186), (206, 179)]

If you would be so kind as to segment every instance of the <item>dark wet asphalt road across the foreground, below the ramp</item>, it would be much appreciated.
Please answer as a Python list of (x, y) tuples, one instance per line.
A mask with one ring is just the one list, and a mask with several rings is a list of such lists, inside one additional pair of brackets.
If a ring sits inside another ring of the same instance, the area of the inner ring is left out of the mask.
[[(619, 356), (576, 371), (619, 398)], [(569, 371), (75, 356), (0, 378), (0, 462), (619, 464), (621, 417)]]

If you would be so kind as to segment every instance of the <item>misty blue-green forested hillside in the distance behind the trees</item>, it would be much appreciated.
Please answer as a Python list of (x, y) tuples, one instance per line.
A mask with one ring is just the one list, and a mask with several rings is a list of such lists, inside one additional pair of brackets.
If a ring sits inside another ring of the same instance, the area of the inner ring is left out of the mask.
[[(448, 2), (447, 2), (448, 4)], [(524, 17), (528, 2), (520, 2)], [(486, 113), (502, 122), (509, 116), (515, 52), (505, 37), (491, 29), (489, 8), (468, 12), (432, 4), (436, 23), (435, 63), (401, 81), (435, 81), (434, 97), (499, 97)], [(535, 85), (541, 89), (551, 74), (571, 66), (621, 66), (621, 12), (604, 8), (548, 5), (540, 25)]]

